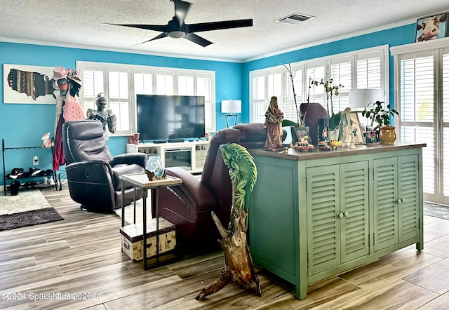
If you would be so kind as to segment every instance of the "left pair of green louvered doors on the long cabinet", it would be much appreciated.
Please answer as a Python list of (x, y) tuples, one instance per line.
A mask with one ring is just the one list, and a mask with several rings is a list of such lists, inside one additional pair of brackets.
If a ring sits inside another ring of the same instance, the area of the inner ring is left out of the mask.
[(368, 161), (307, 168), (308, 275), (369, 252)]

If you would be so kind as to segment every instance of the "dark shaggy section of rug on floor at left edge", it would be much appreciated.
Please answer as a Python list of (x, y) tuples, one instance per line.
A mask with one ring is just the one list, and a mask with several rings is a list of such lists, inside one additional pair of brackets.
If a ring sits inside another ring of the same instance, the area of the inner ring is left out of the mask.
[(0, 215), (0, 231), (64, 220), (55, 208)]

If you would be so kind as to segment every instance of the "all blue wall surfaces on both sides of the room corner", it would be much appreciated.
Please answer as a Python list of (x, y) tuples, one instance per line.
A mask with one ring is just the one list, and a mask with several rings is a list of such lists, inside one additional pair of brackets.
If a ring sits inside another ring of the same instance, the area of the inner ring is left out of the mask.
[[(0, 74), (4, 76), (3, 64), (34, 65), (76, 68), (76, 61), (112, 62), (129, 65), (149, 65), (184, 69), (204, 69), (215, 71), (215, 100), (217, 130), (225, 128), (225, 117), (220, 113), (221, 100), (241, 99), (242, 113), (239, 122), (249, 121), (249, 72), (255, 69), (274, 67), (288, 62), (299, 62), (320, 58), (351, 50), (359, 50), (388, 44), (398, 46), (412, 43), (415, 39), (415, 24), (395, 27), (380, 32), (354, 36), (331, 43), (321, 44), (289, 53), (274, 55), (246, 63), (192, 60), (133, 53), (119, 53), (81, 48), (60, 48), (21, 43), (0, 42)], [(389, 102), (394, 105), (393, 58), (389, 58)], [(51, 131), (55, 121), (55, 105), (6, 105), (3, 103), (3, 83), (0, 84), (0, 135), (6, 140), (6, 147), (40, 145), (41, 135)], [(125, 151), (126, 137), (111, 137), (108, 145), (112, 154)], [(40, 168), (51, 168), (51, 156), (46, 149), (6, 151), (6, 173), (12, 168), (29, 168), (32, 156), (38, 155)], [(0, 171), (3, 174), (2, 171)], [(1, 175), (0, 182), (3, 182)]]

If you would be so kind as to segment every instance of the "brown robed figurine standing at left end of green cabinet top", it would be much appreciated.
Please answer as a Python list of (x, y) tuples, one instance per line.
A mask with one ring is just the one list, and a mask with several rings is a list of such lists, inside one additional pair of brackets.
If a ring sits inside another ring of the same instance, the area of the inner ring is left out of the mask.
[(283, 113), (278, 107), (278, 97), (273, 96), (269, 101), (267, 112), (265, 112), (264, 127), (267, 128), (265, 151), (283, 151), (282, 119)]

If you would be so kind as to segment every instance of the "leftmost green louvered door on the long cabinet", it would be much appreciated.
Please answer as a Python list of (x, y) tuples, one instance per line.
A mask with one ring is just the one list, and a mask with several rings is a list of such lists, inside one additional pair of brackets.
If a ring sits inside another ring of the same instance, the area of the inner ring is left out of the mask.
[(340, 264), (339, 166), (307, 168), (308, 274)]

